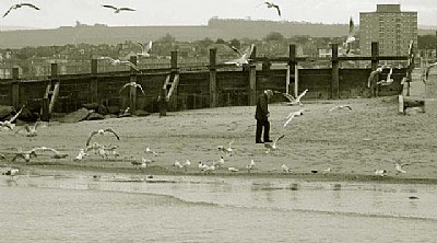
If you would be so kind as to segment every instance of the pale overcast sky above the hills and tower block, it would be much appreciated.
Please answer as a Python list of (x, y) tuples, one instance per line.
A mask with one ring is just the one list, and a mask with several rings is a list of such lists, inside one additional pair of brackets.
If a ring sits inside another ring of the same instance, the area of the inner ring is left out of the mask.
[[(212, 16), (343, 24), (352, 16), (359, 24), (359, 12), (375, 11), (377, 3), (401, 3), (402, 11), (417, 11), (420, 25), (437, 25), (437, 0), (274, 0), (281, 7), (282, 18), (261, 0), (2, 0), (1, 14), (19, 2), (34, 3), (42, 10), (14, 10), (0, 19), (0, 26), (54, 28), (73, 26), (75, 21), (110, 26), (205, 25)], [(115, 14), (101, 4), (137, 11)]]

